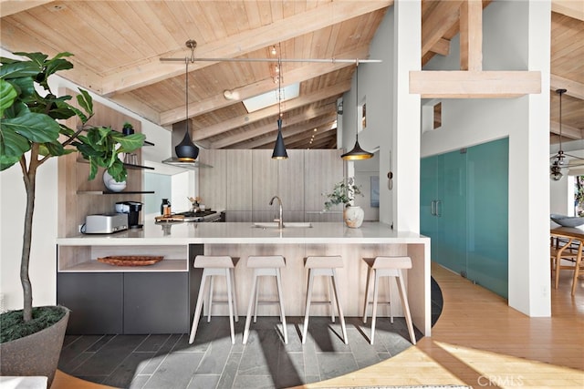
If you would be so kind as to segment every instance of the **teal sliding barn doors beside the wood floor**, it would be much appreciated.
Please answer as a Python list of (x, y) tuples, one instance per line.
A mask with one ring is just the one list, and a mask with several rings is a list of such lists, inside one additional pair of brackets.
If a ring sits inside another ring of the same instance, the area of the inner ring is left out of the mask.
[(432, 260), (507, 297), (508, 139), (424, 158), (420, 178)]

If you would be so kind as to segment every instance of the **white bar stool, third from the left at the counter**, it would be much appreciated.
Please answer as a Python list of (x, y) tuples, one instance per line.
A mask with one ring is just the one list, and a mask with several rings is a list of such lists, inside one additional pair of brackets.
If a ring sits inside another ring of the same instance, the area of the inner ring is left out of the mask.
[[(304, 261), (304, 267), (308, 269), (308, 289), (307, 289), (307, 311), (304, 314), (304, 327), (302, 328), (302, 344), (306, 343), (308, 332), (308, 316), (310, 314), (310, 303), (312, 299), (312, 284), (314, 277), (321, 275), (328, 278), (328, 301), (326, 302), (312, 302), (313, 304), (328, 304), (330, 305), (330, 319), (335, 322), (335, 311), (332, 303), (332, 294), (335, 294), (335, 301), (337, 302), (337, 311), (339, 312), (340, 328), (343, 332), (343, 341), (349, 344), (347, 338), (347, 328), (345, 326), (345, 317), (339, 302), (339, 289), (337, 288), (337, 274), (335, 269), (343, 267), (343, 259), (340, 256), (326, 256), (326, 257), (307, 257)], [(331, 292), (332, 289), (332, 292)]]

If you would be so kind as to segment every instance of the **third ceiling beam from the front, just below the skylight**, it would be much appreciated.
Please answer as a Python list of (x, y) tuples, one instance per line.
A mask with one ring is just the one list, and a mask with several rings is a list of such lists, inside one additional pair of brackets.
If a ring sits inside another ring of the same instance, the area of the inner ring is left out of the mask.
[[(324, 89), (318, 90), (316, 93), (312, 93), (309, 95), (301, 96), (294, 98), (292, 100), (288, 100), (286, 102), (286, 107), (284, 112), (295, 109), (297, 107), (303, 107), (308, 104), (316, 103), (317, 101), (326, 99), (328, 97), (333, 97), (340, 95), (350, 89), (350, 80), (344, 81), (339, 83), (333, 87), (327, 87)], [(225, 131), (229, 131), (233, 128), (243, 127), (247, 124), (254, 123), (257, 120), (261, 120), (263, 118), (275, 116), (278, 113), (277, 105), (266, 107), (264, 109), (257, 110), (255, 112), (249, 113), (247, 115), (242, 115), (237, 118), (231, 118), (229, 120), (225, 120), (224, 122), (217, 123), (214, 126), (209, 126), (207, 128), (198, 129), (193, 131), (193, 140), (201, 140), (204, 138), (214, 137), (215, 135), (219, 135)]]

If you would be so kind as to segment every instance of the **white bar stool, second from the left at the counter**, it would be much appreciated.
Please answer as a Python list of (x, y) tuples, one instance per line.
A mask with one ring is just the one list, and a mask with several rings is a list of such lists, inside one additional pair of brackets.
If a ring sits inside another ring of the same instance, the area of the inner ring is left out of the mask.
[[(257, 320), (257, 303), (259, 302), (259, 289), (257, 288), (257, 279), (261, 276), (276, 277), (276, 287), (278, 301), (280, 304), (280, 317), (282, 320), (282, 332), (284, 333), (284, 343), (288, 343), (286, 330), (286, 314), (284, 313), (284, 297), (282, 295), (282, 277), (280, 268), (286, 267), (286, 260), (281, 255), (257, 256), (250, 255), (247, 257), (247, 267), (254, 269), (254, 282), (252, 283), (252, 292), (249, 296), (249, 305), (247, 306), (247, 316), (245, 317), (244, 344), (249, 337), (249, 324), (252, 316), (252, 306), (254, 307), (254, 322)], [(277, 302), (260, 302), (260, 303), (277, 303)]]

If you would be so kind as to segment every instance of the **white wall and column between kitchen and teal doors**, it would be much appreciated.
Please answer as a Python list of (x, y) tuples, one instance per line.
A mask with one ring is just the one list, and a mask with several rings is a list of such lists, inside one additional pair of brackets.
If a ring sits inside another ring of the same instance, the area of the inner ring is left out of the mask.
[[(342, 117), (342, 145), (349, 150), (355, 144), (356, 104), (366, 100), (367, 128), (359, 141), (368, 151), (379, 148), (379, 220), (414, 232), (420, 230), (420, 182), (412, 179), (420, 173), (420, 97), (409, 93), (408, 72), (420, 68), (420, 20), (417, 2), (396, 2), (388, 9), (370, 43), (370, 58), (382, 62), (359, 66), (359, 97), (353, 77)], [(349, 163), (349, 175), (360, 163), (354, 162), (354, 169)], [(390, 169), (393, 189), (388, 187)]]

